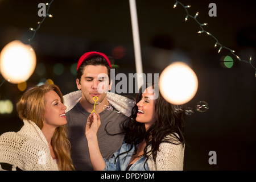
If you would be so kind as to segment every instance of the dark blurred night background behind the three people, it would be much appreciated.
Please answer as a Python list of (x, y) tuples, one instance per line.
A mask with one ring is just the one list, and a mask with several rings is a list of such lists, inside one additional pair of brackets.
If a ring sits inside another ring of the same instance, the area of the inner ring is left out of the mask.
[[(33, 34), (29, 28), (43, 19), (38, 16), (40, 2), (50, 1), (0, 0), (0, 50), (13, 40), (28, 44)], [(241, 59), (251, 56), (256, 66), (255, 1), (180, 2), (191, 5), (189, 14), (199, 12), (197, 20), (208, 23), (204, 29), (223, 46)], [(217, 5), (216, 17), (208, 15), (212, 2)], [(255, 69), (224, 48), (218, 53), (216, 41), (198, 34), (199, 24), (190, 18), (185, 22), (184, 8), (174, 9), (174, 4), (137, 0), (137, 14), (143, 72), (160, 75), (173, 61), (185, 61), (199, 81), (196, 96), (186, 104), (194, 113), (185, 122), (184, 170), (255, 170)], [(80, 56), (89, 51), (109, 56), (115, 74), (136, 72), (128, 0), (55, 0), (49, 14), (53, 17), (44, 20), (31, 43), (36, 68), (26, 89), (51, 79), (63, 95), (77, 90), (73, 71)], [(233, 58), (232, 68), (223, 67), (225, 56)], [(0, 75), (0, 84), (3, 80)], [(11, 113), (0, 113), (0, 134), (22, 127), (15, 104), (24, 92), (7, 81), (0, 87), (0, 101), (13, 102)], [(204, 113), (195, 109), (199, 101), (209, 104)], [(210, 151), (216, 151), (217, 164), (208, 163)]]

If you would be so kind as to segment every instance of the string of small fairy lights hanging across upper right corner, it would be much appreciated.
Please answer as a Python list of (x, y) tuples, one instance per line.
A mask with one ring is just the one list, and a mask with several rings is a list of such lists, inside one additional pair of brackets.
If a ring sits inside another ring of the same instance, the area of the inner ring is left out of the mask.
[(212, 34), (210, 34), (210, 32), (208, 32), (208, 31), (206, 31), (206, 30), (204, 29), (204, 26), (207, 26), (208, 23), (200, 23), (199, 20), (196, 19), (197, 16), (199, 15), (199, 12), (197, 12), (196, 15), (191, 15), (191, 14), (188, 13), (188, 8), (191, 7), (190, 5), (185, 6), (185, 5), (183, 5), (183, 3), (181, 3), (180, 1), (177, 1), (177, 0), (175, 0), (175, 1), (176, 1), (176, 2), (175, 2), (175, 4), (174, 4), (174, 8), (177, 7), (177, 5), (180, 5), (181, 7), (184, 8), (184, 10), (185, 10), (185, 12), (186, 12), (186, 14), (187, 14), (187, 15), (185, 16), (185, 22), (187, 22), (188, 18), (194, 19), (194, 20), (196, 21), (196, 23), (199, 24), (199, 26), (200, 26), (200, 28), (201, 28), (201, 30), (198, 31), (197, 33), (198, 33), (198, 34), (207, 34), (207, 35), (209, 35), (210, 37), (212, 37), (212, 38), (216, 41), (216, 43), (214, 44), (214, 47), (219, 47), (218, 53), (221, 52), (221, 49), (222, 49), (222, 48), (228, 49), (228, 51), (230, 51), (230, 53), (231, 53), (234, 57), (236, 57), (236, 59), (237, 59), (238, 61), (242, 61), (242, 62), (245, 62), (245, 63), (249, 63), (250, 66), (255, 70), (255, 77), (256, 77), (256, 68), (255, 68), (255, 67), (253, 66), (253, 64), (251, 63), (251, 56), (250, 56), (249, 60), (243, 60), (243, 59), (241, 59), (238, 55), (235, 54), (235, 51), (234, 51), (233, 49), (230, 49), (230, 48), (228, 48), (228, 47), (226, 47), (226, 46), (223, 46), (223, 45), (220, 43), (220, 41), (218, 41), (218, 39), (217, 39), (215, 36), (213, 36)]

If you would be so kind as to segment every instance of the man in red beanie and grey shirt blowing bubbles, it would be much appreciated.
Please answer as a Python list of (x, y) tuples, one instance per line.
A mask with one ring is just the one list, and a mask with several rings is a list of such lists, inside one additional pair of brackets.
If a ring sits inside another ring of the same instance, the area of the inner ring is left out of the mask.
[(101, 117), (97, 137), (103, 158), (111, 158), (123, 142), (124, 136), (118, 133), (122, 132), (122, 123), (130, 116), (133, 105), (125, 102), (128, 98), (108, 92), (112, 86), (111, 68), (108, 57), (103, 53), (85, 53), (77, 64), (76, 84), (79, 91), (64, 96), (71, 156), (79, 171), (93, 170), (85, 137), (86, 122), (93, 110)]

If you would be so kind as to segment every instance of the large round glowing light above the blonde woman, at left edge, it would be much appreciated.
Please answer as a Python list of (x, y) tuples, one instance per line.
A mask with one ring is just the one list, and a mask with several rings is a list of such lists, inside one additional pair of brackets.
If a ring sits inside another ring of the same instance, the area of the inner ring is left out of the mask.
[(34, 72), (36, 55), (34, 49), (14, 40), (1, 51), (0, 71), (5, 80), (13, 84), (26, 81)]

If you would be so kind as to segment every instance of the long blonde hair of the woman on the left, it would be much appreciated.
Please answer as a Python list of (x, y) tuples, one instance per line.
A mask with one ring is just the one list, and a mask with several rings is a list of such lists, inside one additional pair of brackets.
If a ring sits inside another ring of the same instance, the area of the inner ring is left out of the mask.
[[(59, 95), (61, 102), (64, 104), (63, 95), (58, 86), (54, 84), (35, 86), (27, 90), (16, 104), (19, 118), (35, 122), (42, 129), (46, 111), (45, 94), (51, 90)], [(52, 148), (57, 156), (58, 167), (61, 171), (72, 171), (75, 169), (72, 164), (71, 144), (67, 133), (65, 125), (59, 126), (56, 128), (51, 139)]]

